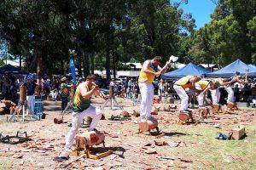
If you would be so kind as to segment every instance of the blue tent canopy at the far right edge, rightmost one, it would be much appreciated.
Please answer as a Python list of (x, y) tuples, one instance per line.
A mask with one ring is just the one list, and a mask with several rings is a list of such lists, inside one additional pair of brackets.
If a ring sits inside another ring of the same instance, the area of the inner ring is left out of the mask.
[(236, 61), (218, 71), (207, 73), (207, 77), (233, 77), (236, 71), (239, 71), (241, 75), (245, 75), (247, 72), (249, 77), (256, 77), (256, 69), (245, 64), (240, 59), (236, 59)]

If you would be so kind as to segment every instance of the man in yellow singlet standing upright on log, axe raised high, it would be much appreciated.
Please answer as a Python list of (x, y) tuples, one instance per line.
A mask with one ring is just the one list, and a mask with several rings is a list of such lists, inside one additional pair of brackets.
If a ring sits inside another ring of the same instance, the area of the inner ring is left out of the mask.
[(160, 62), (161, 57), (156, 56), (154, 59), (146, 60), (143, 63), (143, 68), (140, 72), (138, 79), (140, 92), (142, 94), (142, 103), (141, 103), (141, 121), (146, 121), (151, 118), (151, 109), (154, 100), (154, 87), (152, 82), (154, 77), (159, 77), (166, 73), (167, 68), (170, 66), (172, 61), (176, 61), (177, 58), (172, 56), (173, 59), (169, 59), (166, 62), (166, 65), (161, 68)]

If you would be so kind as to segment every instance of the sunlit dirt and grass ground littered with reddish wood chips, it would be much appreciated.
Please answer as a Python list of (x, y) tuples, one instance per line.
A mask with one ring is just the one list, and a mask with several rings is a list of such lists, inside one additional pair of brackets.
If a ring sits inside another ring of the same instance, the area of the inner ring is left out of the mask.
[[(132, 113), (128, 99), (118, 99), (125, 111)], [(104, 100), (93, 99), (93, 105), (102, 106)], [(167, 104), (157, 104), (163, 106)], [(108, 105), (109, 106), (109, 105)], [(243, 108), (246, 109), (246, 108)], [(66, 169), (255, 169), (256, 168), (256, 110), (235, 111), (233, 114), (214, 115), (207, 122), (181, 125), (177, 111), (160, 111), (157, 117), (162, 135), (137, 133), (138, 117), (131, 120), (112, 121), (120, 110), (103, 110), (106, 120), (97, 129), (106, 133), (106, 147), (113, 155), (100, 160), (80, 159)], [(45, 101), (46, 119), (41, 121), (6, 122), (0, 116), (0, 133), (13, 136), (26, 132), (32, 139), (18, 144), (0, 143), (0, 169), (62, 169), (68, 161), (54, 161), (63, 150), (69, 131), (71, 115), (64, 116), (65, 123), (55, 124), (53, 119), (61, 113), (60, 101)], [(194, 110), (196, 113), (196, 110)], [(195, 115), (195, 119), (198, 116)], [(218, 140), (218, 133), (228, 134), (239, 125), (246, 127), (247, 136), (241, 140)], [(86, 131), (80, 127), (79, 133)], [(166, 145), (156, 145), (154, 140)], [(102, 145), (96, 146), (102, 147)], [(148, 154), (149, 152), (151, 154)]]

